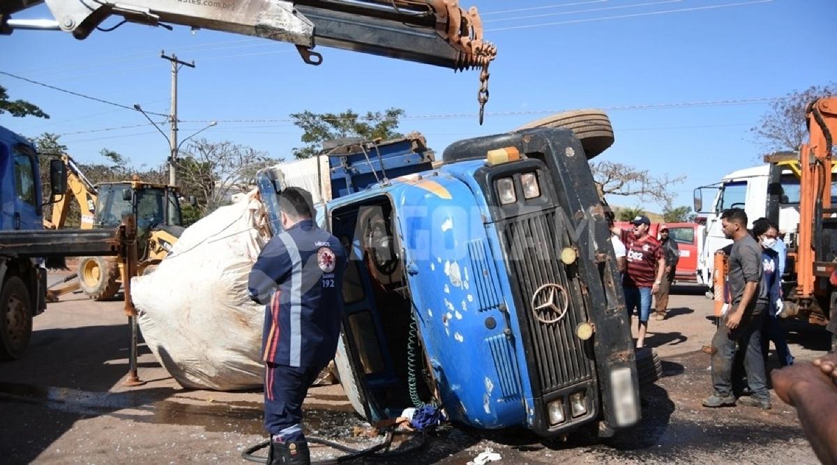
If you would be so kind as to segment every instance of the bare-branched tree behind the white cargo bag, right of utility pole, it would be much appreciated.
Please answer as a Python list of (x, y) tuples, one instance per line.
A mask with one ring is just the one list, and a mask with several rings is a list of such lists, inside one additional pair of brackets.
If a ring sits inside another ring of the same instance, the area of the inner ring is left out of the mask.
[(229, 141), (190, 143), (177, 162), (182, 195), (195, 196), (203, 214), (229, 203), (234, 192), (254, 184), (256, 171), (281, 160)]

